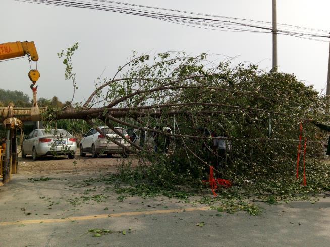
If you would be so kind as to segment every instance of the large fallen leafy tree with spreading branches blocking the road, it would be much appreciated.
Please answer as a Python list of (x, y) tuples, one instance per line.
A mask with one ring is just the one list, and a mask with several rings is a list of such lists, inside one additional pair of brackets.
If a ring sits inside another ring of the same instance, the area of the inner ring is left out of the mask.
[[(69, 55), (66, 78), (75, 87)], [(96, 118), (120, 136), (114, 126), (169, 137), (167, 154), (128, 140), (128, 151), (145, 161), (146, 177), (160, 184), (201, 184), (217, 159), (214, 138), (206, 132), (230, 142), (228, 162), (216, 167), (224, 178), (293, 174), (299, 123), (324, 119), (326, 109), (325, 98), (295, 75), (244, 63), (233, 67), (230, 60), (211, 62), (206, 54), (134, 55), (113, 78), (98, 78), (95, 86), (84, 104), (49, 109), (44, 119), (76, 118), (93, 125)], [(324, 133), (311, 124), (303, 127), (306, 162), (315, 162), (322, 157)]]

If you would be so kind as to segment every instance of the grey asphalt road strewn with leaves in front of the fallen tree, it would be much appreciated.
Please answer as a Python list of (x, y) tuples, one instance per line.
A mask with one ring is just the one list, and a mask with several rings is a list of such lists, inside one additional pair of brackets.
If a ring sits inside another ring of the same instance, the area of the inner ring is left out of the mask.
[[(26, 162), (37, 169), (47, 160)], [(111, 169), (101, 168), (33, 174), (23, 169), (14, 175), (0, 187), (0, 246), (330, 245), (329, 196), (320, 195), (316, 202), (258, 203), (263, 208), (258, 216), (219, 213), (208, 205), (166, 197), (127, 197), (121, 202), (106, 184), (86, 184), (87, 178)], [(31, 180), (42, 176), (51, 179)], [(92, 229), (109, 232), (95, 236)]]

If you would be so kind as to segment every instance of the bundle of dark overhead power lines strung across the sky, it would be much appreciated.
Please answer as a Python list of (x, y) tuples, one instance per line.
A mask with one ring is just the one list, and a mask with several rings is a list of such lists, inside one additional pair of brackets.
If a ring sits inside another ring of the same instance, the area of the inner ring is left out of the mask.
[[(202, 29), (272, 33), (271, 22), (255, 21), (243, 18), (225, 17), (182, 10), (158, 8), (146, 5), (129, 4), (108, 0), (16, 0), (18, 2), (44, 4), (52, 6), (86, 8), (94, 10), (109, 11), (115, 13), (149, 17), (175, 24), (197, 27)], [(131, 7), (132, 6), (132, 7)], [(136, 8), (138, 7), (138, 8)], [(180, 14), (179, 14), (180, 13)], [(183, 13), (184, 15), (182, 15)], [(277, 34), (304, 38), (315, 41), (328, 42), (329, 31), (299, 27), (287, 24), (278, 24)]]

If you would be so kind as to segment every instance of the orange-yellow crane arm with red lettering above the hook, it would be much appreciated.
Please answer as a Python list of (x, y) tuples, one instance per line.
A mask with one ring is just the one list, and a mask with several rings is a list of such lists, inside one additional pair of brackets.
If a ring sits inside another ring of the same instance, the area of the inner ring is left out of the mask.
[(29, 55), (32, 61), (38, 61), (39, 56), (34, 42), (10, 42), (0, 44), (0, 60)]

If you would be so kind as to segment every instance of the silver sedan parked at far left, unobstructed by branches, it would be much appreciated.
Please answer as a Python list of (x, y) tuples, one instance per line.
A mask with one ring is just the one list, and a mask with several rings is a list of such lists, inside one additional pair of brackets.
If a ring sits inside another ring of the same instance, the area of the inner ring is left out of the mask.
[(22, 144), (22, 158), (32, 155), (33, 160), (46, 155), (67, 155), (75, 157), (76, 138), (64, 129), (35, 129)]

